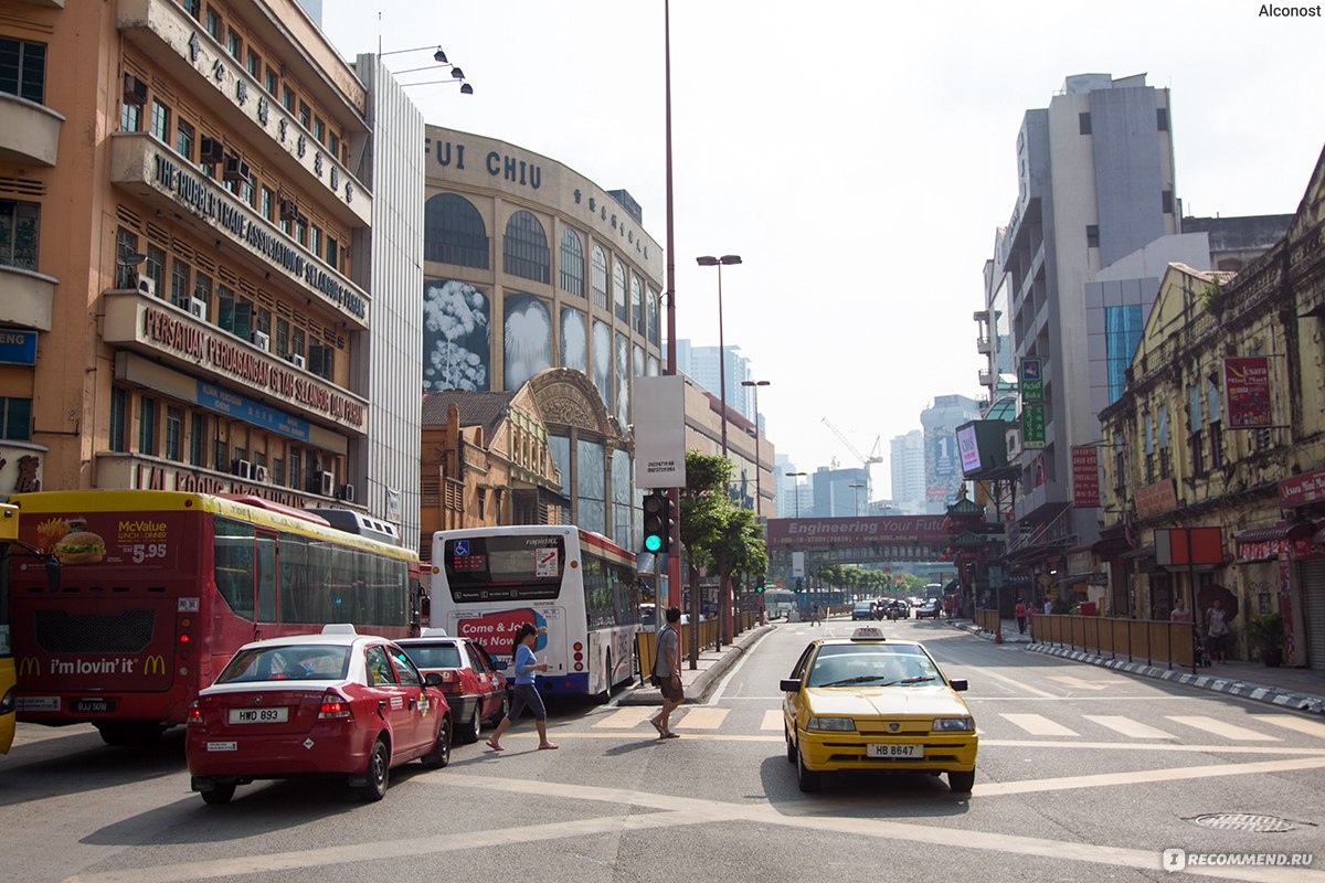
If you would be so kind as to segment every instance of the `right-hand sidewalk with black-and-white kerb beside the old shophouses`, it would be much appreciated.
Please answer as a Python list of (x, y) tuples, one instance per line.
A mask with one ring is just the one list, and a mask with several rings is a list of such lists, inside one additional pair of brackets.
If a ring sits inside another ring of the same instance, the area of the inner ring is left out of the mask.
[[(954, 629), (970, 631), (986, 641), (994, 639), (991, 631), (977, 627), (970, 620), (953, 620), (949, 625)], [(1162, 666), (1146, 665), (1145, 662), (1129, 662), (1126, 657), (1101, 657), (1084, 650), (1032, 641), (1030, 635), (1018, 634), (1015, 620), (1003, 621), (1003, 642), (1026, 643), (1027, 650), (1044, 653), (1051, 657), (1085, 662), (1145, 678), (1173, 680), (1214, 692), (1227, 692), (1234, 696), (1255, 699), (1256, 702), (1264, 702), (1281, 708), (1296, 708), (1298, 711), (1325, 715), (1325, 674), (1309, 669), (1291, 669), (1284, 666), (1271, 669), (1259, 662), (1235, 659), (1232, 662), (1216, 662), (1210, 669), (1198, 669), (1198, 674), (1192, 674), (1190, 669), (1165, 669)]]

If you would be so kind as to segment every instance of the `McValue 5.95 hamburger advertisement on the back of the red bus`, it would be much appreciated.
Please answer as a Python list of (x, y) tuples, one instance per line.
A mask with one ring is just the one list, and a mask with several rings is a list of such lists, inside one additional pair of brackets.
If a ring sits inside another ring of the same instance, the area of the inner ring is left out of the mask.
[(64, 567), (167, 564), (168, 520), (174, 514), (53, 515), (37, 520), (36, 545)]

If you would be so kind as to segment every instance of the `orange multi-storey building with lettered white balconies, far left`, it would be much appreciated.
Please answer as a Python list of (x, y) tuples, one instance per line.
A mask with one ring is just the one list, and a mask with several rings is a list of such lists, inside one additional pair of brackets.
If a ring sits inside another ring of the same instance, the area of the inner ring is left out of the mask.
[(17, 4), (0, 49), (0, 492), (359, 499), (354, 69), (294, 0)]

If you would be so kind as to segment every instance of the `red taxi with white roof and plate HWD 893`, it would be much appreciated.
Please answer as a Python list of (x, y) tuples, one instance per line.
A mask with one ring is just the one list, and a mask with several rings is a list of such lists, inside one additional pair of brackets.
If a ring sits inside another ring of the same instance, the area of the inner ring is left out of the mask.
[(394, 767), (450, 760), (440, 684), (391, 641), (347, 626), (246, 643), (189, 707), (193, 790), (227, 804), (236, 785), (318, 773), (382, 800)]

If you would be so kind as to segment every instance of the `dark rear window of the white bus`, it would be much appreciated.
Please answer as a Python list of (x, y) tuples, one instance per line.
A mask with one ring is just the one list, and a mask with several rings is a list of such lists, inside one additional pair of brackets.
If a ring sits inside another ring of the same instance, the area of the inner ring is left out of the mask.
[(473, 536), (447, 540), (443, 565), (457, 601), (553, 600), (562, 585), (560, 536)]

